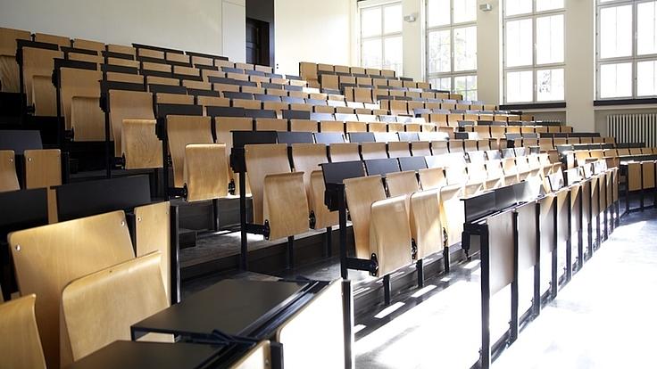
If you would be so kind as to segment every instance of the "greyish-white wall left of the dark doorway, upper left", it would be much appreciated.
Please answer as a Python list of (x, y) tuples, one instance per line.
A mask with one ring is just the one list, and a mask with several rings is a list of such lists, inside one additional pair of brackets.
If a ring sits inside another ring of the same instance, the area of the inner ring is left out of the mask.
[[(245, 0), (230, 2), (245, 5)], [(239, 48), (244, 54), (244, 37), (222, 38), (227, 29), (221, 8), (221, 0), (0, 0), (0, 27), (200, 53)], [(244, 16), (229, 30), (244, 34)]]

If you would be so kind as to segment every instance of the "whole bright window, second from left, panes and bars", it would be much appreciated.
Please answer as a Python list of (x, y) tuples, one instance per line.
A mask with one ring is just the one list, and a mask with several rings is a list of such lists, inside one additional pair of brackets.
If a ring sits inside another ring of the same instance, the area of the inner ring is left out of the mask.
[(477, 100), (477, 0), (427, 0), (431, 86)]

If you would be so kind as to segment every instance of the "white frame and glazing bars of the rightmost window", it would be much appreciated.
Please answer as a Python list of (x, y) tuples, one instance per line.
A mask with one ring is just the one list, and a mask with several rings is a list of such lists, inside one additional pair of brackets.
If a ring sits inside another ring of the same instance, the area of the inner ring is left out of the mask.
[[(595, 99), (596, 101), (612, 101), (612, 100), (641, 100), (657, 98), (657, 91), (655, 94), (638, 95), (638, 63), (641, 61), (657, 61), (657, 53), (650, 53), (645, 55), (638, 55), (638, 5), (645, 3), (653, 3), (654, 0), (612, 0), (602, 2), (595, 0)], [(601, 37), (601, 16), (600, 12), (605, 8), (614, 8), (623, 5), (632, 6), (632, 54), (629, 56), (617, 56), (611, 58), (602, 58), (600, 56), (602, 47)], [(657, 6), (657, 4), (655, 5)], [(602, 66), (607, 64), (621, 64), (630, 63), (632, 67), (632, 94), (629, 96), (611, 96), (602, 97)]]

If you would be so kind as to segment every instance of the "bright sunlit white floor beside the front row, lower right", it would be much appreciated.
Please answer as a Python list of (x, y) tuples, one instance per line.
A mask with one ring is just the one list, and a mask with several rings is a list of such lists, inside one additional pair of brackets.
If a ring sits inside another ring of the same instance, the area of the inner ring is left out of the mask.
[(656, 367), (657, 211), (634, 213), (560, 291), (498, 368)]

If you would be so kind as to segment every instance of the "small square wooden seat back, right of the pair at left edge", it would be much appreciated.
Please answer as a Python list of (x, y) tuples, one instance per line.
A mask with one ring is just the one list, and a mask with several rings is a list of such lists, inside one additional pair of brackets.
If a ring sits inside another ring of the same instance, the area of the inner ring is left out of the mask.
[(62, 184), (62, 153), (59, 149), (26, 150), (24, 155), (26, 188)]

